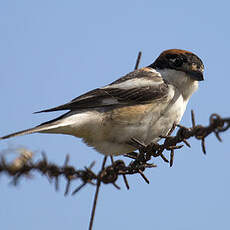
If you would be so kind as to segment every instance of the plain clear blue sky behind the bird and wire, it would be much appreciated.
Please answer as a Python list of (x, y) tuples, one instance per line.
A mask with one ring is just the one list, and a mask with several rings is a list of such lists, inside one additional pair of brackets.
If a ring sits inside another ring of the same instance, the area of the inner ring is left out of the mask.
[[(29, 128), (60, 113), (32, 114), (63, 104), (103, 86), (134, 68), (149, 65), (165, 49), (188, 49), (204, 62), (205, 81), (192, 97), (181, 124), (190, 126), (190, 111), (207, 124), (211, 113), (230, 116), (228, 1), (1, 1), (0, 135)], [(147, 185), (129, 176), (117, 191), (102, 187), (94, 229), (229, 229), (229, 133), (219, 143), (207, 138), (177, 151), (174, 166), (157, 159)], [(0, 143), (0, 151), (25, 146), (62, 164), (67, 153), (78, 168), (102, 156), (80, 140), (62, 135), (18, 137)], [(10, 154), (9, 154), (10, 155)], [(8, 156), (8, 155), (7, 155)], [(10, 155), (11, 157), (14, 155)], [(55, 192), (34, 174), (18, 187), (1, 176), (2, 229), (87, 229), (95, 188), (76, 196)], [(76, 184), (77, 185), (77, 184)]]

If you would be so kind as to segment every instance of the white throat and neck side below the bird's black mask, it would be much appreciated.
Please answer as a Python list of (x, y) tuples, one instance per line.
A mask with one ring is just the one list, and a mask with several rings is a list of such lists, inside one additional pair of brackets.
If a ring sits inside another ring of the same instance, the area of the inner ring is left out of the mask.
[(173, 69), (157, 69), (162, 78), (175, 86), (182, 94), (184, 100), (188, 100), (198, 89), (198, 81), (190, 78), (186, 73)]

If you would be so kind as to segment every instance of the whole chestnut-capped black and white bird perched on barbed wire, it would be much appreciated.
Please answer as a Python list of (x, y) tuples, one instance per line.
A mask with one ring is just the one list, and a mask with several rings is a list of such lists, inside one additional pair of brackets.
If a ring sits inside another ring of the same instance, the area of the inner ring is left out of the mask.
[(133, 152), (132, 139), (157, 143), (180, 123), (198, 82), (204, 80), (203, 72), (204, 64), (194, 53), (165, 50), (146, 67), (66, 104), (35, 112), (68, 110), (65, 114), (0, 140), (32, 133), (67, 134), (105, 156)]

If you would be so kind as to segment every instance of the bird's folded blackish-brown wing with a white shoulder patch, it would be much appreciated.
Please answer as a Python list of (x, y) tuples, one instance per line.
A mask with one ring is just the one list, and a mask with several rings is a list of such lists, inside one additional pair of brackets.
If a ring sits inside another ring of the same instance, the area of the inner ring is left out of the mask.
[[(135, 84), (136, 81), (139, 81), (139, 85)], [(69, 103), (36, 113), (146, 104), (152, 100), (165, 98), (167, 95), (168, 85), (159, 73), (143, 68), (127, 74), (106, 87), (89, 91)]]

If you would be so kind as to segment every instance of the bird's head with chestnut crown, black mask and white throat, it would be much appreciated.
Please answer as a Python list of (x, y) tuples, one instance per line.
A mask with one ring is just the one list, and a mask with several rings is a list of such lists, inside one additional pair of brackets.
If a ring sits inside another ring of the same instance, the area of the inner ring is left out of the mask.
[(156, 69), (165, 80), (176, 86), (185, 99), (197, 90), (198, 81), (204, 80), (203, 62), (186, 50), (166, 50), (149, 67)]

